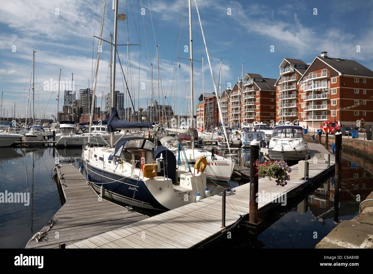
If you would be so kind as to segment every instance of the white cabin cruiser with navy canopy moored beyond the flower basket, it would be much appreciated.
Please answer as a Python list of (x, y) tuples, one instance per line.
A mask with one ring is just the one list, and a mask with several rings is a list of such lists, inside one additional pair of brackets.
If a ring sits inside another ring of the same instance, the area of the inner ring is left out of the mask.
[(308, 160), (308, 145), (300, 126), (276, 126), (268, 146), (269, 157), (273, 160)]

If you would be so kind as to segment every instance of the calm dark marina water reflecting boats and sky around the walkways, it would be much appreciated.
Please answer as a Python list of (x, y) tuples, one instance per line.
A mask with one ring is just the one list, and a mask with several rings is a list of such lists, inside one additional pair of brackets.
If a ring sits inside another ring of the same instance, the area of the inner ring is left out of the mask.
[[(219, 154), (219, 152), (216, 152)], [(247, 166), (247, 151), (232, 150), (231, 157)], [(24, 248), (28, 240), (39, 232), (60, 209), (59, 192), (51, 169), (55, 158), (60, 163), (80, 166), (81, 149), (0, 148), (0, 192), (29, 192), (30, 203), (0, 203), (0, 248)], [(344, 155), (340, 191), (339, 220), (350, 220), (358, 214), (359, 202), (373, 190), (373, 171), (361, 166), (360, 161)], [(372, 165), (371, 165), (372, 166)], [(288, 205), (285, 213), (267, 218), (266, 227), (257, 238), (248, 235), (242, 226), (232, 232), (232, 239), (222, 239), (214, 248), (314, 248), (336, 224), (334, 219), (334, 182), (325, 178), (325, 184), (315, 186), (310, 193)], [(239, 183), (247, 182), (241, 180)], [(239, 183), (229, 182), (231, 188)], [(159, 211), (141, 211), (146, 215)], [(281, 208), (282, 210), (282, 208)], [(317, 232), (317, 239), (314, 239)]]

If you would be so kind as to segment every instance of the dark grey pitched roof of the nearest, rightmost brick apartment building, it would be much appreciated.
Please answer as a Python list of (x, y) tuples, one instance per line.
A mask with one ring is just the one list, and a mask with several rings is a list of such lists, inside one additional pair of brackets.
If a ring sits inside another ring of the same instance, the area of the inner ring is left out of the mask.
[(373, 71), (364, 67), (362, 64), (356, 62), (355, 60), (320, 57), (316, 58), (328, 64), (330, 67), (342, 74), (352, 74), (352, 75), (364, 75), (373, 76)]

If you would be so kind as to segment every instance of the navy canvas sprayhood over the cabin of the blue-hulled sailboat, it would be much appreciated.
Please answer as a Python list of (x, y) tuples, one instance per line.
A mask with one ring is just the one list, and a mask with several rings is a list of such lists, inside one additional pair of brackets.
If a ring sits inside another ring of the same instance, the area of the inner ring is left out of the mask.
[[(161, 145), (161, 143), (158, 140), (157, 145)], [(142, 137), (120, 139), (115, 145), (112, 154), (109, 155), (108, 160), (112, 161), (113, 157), (120, 158), (120, 155), (122, 155), (123, 149), (125, 148), (152, 149), (155, 148), (154, 139)]]

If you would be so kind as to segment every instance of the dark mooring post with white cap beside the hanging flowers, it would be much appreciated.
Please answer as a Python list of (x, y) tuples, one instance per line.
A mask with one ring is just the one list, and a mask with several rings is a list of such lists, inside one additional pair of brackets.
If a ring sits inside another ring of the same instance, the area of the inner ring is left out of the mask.
[(259, 159), (259, 142), (254, 139), (250, 142), (250, 203), (249, 203), (249, 222), (258, 223), (258, 202), (256, 199), (258, 193), (258, 176), (256, 176), (255, 162)]

